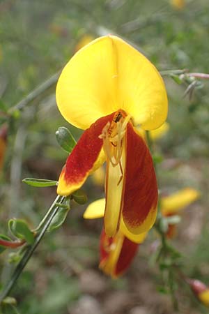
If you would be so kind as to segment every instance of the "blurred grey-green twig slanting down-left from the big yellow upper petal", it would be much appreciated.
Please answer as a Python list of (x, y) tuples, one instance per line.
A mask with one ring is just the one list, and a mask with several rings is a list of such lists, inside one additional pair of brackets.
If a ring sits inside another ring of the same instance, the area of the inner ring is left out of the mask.
[(15, 110), (24, 109), (24, 107), (26, 107), (26, 105), (29, 105), (29, 103), (31, 103), (33, 100), (35, 100), (41, 94), (43, 94), (45, 91), (47, 91), (47, 89), (49, 89), (50, 87), (52, 87), (52, 85), (54, 85), (56, 83), (56, 81), (59, 78), (60, 73), (61, 73), (61, 71), (55, 73), (54, 75), (52, 75), (52, 77), (49, 77), (48, 80), (46, 80), (45, 82), (40, 84), (40, 86), (38, 86), (36, 89), (31, 91), (31, 93), (28, 94), (24, 99), (22, 99), (19, 103), (17, 103), (13, 107), (11, 107), (9, 110), (9, 113), (12, 114)]

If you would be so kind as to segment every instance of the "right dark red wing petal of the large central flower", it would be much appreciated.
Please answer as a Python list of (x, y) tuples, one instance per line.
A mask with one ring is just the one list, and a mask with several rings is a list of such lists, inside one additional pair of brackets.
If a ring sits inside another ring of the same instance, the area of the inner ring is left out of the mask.
[(127, 124), (123, 220), (130, 232), (146, 232), (157, 214), (157, 180), (153, 159), (144, 140)]

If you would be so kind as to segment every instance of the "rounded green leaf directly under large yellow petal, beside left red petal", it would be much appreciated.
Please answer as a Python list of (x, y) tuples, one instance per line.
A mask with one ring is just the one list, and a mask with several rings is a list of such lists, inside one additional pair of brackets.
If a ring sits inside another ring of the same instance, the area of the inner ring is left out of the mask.
[(76, 145), (75, 138), (70, 133), (70, 130), (68, 128), (65, 128), (64, 126), (61, 126), (55, 133), (56, 140), (59, 143), (59, 145), (65, 150), (68, 151), (68, 153), (71, 153), (72, 149)]

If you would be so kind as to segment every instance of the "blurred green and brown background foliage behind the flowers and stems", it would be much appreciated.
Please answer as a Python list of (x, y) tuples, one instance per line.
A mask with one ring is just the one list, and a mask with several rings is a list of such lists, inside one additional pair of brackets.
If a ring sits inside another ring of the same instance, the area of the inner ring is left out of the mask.
[[(209, 73), (208, 16), (208, 0), (1, 0), (0, 124), (6, 121), (11, 107), (58, 73), (79, 45), (107, 33), (130, 41), (158, 70), (186, 68)], [(157, 154), (164, 156), (157, 171), (158, 181), (162, 194), (186, 186), (201, 191), (201, 200), (183, 215), (175, 244), (184, 255), (187, 275), (209, 284), (208, 82), (202, 80), (204, 85), (189, 99), (184, 96), (185, 83), (176, 84), (167, 76), (164, 79), (170, 128), (155, 143)], [(81, 134), (59, 114), (55, 86), (52, 84), (24, 110), (13, 111), (10, 118), (0, 174), (2, 232), (8, 218), (14, 216), (26, 219), (31, 227), (38, 224), (56, 190), (24, 186), (22, 179), (57, 180), (67, 154), (56, 143), (55, 131), (66, 126), (76, 138)], [(89, 201), (104, 193), (98, 180), (88, 179), (84, 186)], [(102, 223), (84, 221), (85, 208), (75, 204), (63, 227), (45, 236), (13, 292), (18, 311), (137, 314), (141, 308), (140, 313), (173, 313), (167, 295), (156, 289), (162, 278), (155, 265), (147, 265), (151, 240), (141, 246), (130, 271), (118, 281), (98, 271)], [(1, 255), (3, 283), (11, 271), (9, 264), (5, 266), (7, 260), (6, 253)], [(186, 287), (184, 291), (179, 294), (181, 313), (207, 313), (203, 308), (195, 310), (193, 295)]]

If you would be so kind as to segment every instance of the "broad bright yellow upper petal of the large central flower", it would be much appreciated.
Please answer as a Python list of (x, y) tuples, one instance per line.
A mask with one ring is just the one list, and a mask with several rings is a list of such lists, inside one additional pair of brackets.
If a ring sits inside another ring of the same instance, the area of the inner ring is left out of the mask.
[(63, 117), (84, 129), (120, 109), (146, 130), (167, 118), (162, 77), (143, 54), (116, 36), (93, 40), (72, 57), (59, 78), (56, 100)]

